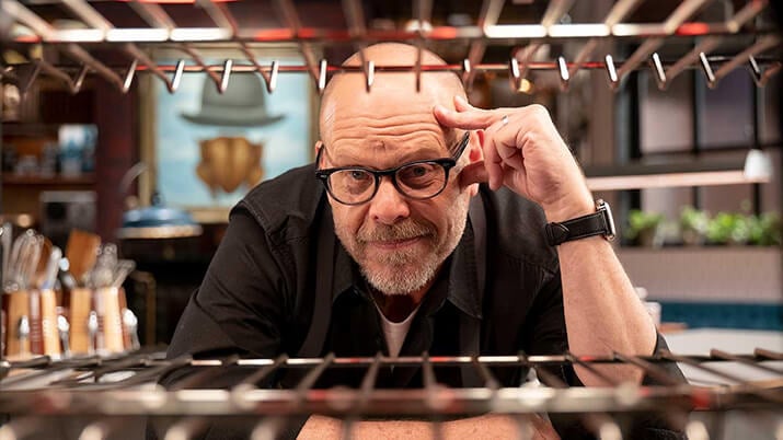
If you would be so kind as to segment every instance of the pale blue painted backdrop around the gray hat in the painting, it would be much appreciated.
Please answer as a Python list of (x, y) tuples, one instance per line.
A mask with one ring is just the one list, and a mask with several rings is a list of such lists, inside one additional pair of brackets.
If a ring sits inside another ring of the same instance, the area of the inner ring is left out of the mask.
[[(270, 60), (260, 59), (263, 66)], [(299, 59), (280, 60), (280, 65), (301, 65)], [(234, 74), (235, 76), (235, 74)], [(261, 77), (258, 77), (261, 79)], [(169, 206), (231, 207), (249, 190), (241, 185), (231, 194), (218, 192), (212, 197), (208, 186), (196, 174), (200, 161), (199, 141), (216, 137), (245, 137), (253, 143), (263, 143), (264, 178), (306, 164), (311, 160), (310, 139), (310, 78), (303, 73), (281, 73), (277, 89), (265, 93), (266, 111), (285, 117), (263, 127), (221, 127), (193, 124), (183, 113), (196, 114), (201, 106), (204, 73), (185, 73), (180, 89), (170, 94), (160, 81), (154, 83), (157, 96), (156, 154), (158, 160), (158, 189)]]

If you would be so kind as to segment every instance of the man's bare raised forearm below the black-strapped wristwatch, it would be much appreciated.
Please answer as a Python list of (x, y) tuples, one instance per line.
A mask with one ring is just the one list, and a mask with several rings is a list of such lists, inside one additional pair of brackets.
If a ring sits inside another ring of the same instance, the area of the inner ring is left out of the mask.
[[(623, 270), (611, 244), (599, 236), (566, 242), (557, 247), (568, 346), (575, 355), (650, 355), (655, 325)], [(618, 381), (638, 382), (634, 367), (601, 367)], [(586, 385), (608, 385), (584, 369), (576, 373)]]

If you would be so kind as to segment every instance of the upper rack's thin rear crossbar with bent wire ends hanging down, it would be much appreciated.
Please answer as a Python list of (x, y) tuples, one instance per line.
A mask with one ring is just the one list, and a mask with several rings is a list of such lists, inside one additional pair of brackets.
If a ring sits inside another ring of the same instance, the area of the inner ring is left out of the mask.
[[(691, 65), (684, 67), (686, 69), (696, 69), (702, 68), (705, 77), (707, 78), (707, 83), (711, 86), (715, 86), (717, 81), (725, 77), (729, 71), (747, 63), (749, 66), (749, 72), (753, 77), (753, 81), (758, 86), (764, 86), (773, 74), (778, 73), (781, 69), (781, 61), (773, 58), (758, 57), (758, 55), (770, 47), (780, 44), (780, 37), (769, 36), (760, 39), (757, 44), (752, 45), (748, 49), (744, 50), (733, 57), (726, 56), (710, 56), (707, 57), (704, 51), (699, 53), (700, 65)], [(76, 46), (81, 51), (79, 46)], [(89, 57), (89, 55), (81, 54), (80, 51), (73, 53), (73, 58), (82, 59), (85, 61), (81, 66), (80, 70), (76, 73), (70, 73), (73, 71), (72, 67), (56, 67), (44, 60), (34, 60), (32, 63), (22, 63), (8, 66), (5, 68), (5, 74), (14, 74), (14, 72), (21, 72), (15, 74), (18, 78), (26, 78), (24, 81), (20, 81), (24, 84), (30, 84), (37, 78), (41, 73), (46, 73), (57, 78), (62, 81), (72, 93), (77, 93), (81, 86), (81, 81), (83, 81), (87, 70), (90, 66), (95, 66), (92, 70), (100, 72), (107, 81), (114, 83), (122, 92), (127, 92), (130, 88), (130, 83), (137, 72), (151, 72), (161, 81), (163, 81), (165, 88), (169, 92), (174, 93), (179, 89), (180, 81), (183, 73), (195, 73), (195, 72), (206, 72), (210, 79), (215, 82), (219, 92), (224, 91), (228, 88), (230, 74), (231, 73), (251, 73), (255, 72), (261, 74), (267, 86), (269, 93), (274, 92), (277, 86), (277, 77), (279, 73), (296, 73), (304, 72), (312, 76), (312, 68), (308, 65), (304, 66), (280, 66), (279, 61), (274, 60), (268, 67), (260, 65), (254, 55), (245, 46), (241, 50), (245, 55), (245, 60), (239, 60), (240, 62), (250, 63), (235, 63), (233, 59), (226, 59), (222, 65), (209, 65), (206, 60), (192, 47), (188, 45), (181, 45), (177, 47), (191, 56), (195, 63), (188, 65), (185, 59), (180, 59), (175, 65), (158, 65), (143, 50), (139, 49), (136, 45), (126, 45), (123, 47), (124, 50), (133, 58), (130, 66), (120, 71), (118, 68), (112, 68), (101, 65)], [(656, 79), (658, 80), (658, 85), (660, 88), (666, 88), (671, 82), (671, 77), (668, 71), (672, 66), (681, 65), (681, 59), (677, 61), (665, 61), (661, 60), (657, 54), (654, 54), (650, 58), (650, 65), (654, 67), (654, 72)], [(617, 89), (621, 81), (619, 77), (619, 67), (623, 67), (627, 61), (615, 62), (611, 55), (607, 55), (603, 61), (587, 61), (578, 63), (580, 69), (603, 69), (607, 71), (608, 83), (612, 89)], [(569, 71), (576, 68), (577, 62), (568, 62), (564, 57), (557, 57), (554, 61), (530, 61), (525, 65), (525, 70), (527, 71), (542, 71), (542, 70), (554, 70), (557, 71), (561, 78), (562, 88), (567, 89), (568, 81), (571, 78)], [(25, 68), (32, 66), (33, 69)], [(669, 68), (667, 68), (669, 66)], [(717, 67), (717, 70), (714, 68)], [(677, 68), (679, 69), (679, 67)], [(510, 59), (509, 63), (480, 63), (473, 65), (469, 59), (465, 59), (461, 65), (424, 65), (421, 66), (376, 66), (371, 60), (364, 66), (330, 66), (326, 60), (321, 60), (316, 67), (316, 73), (314, 74), (316, 88), (319, 91), (323, 91), (326, 84), (326, 77), (334, 73), (343, 72), (360, 72), (365, 76), (368, 86), (371, 86), (376, 79), (376, 73), (378, 72), (411, 72), (418, 70), (419, 74), (422, 72), (453, 72), (461, 76), (465, 81), (470, 81), (470, 74), (475, 76), (479, 72), (488, 73), (502, 73), (508, 74), (511, 86), (518, 90), (523, 79), (522, 69), (520, 63), (516, 59)], [(627, 70), (627, 69), (626, 69)], [(679, 73), (679, 72), (678, 72)], [(26, 90), (25, 85), (22, 89)]]

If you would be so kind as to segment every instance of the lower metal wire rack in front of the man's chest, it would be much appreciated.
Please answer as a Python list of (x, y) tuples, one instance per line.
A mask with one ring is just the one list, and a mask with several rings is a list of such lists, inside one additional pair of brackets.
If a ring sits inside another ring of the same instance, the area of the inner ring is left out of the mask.
[[(364, 417), (400, 415), (442, 420), (487, 412), (517, 417), (526, 427), (533, 414), (576, 414), (586, 429), (601, 439), (622, 439), (623, 420), (634, 414), (660, 414), (689, 438), (719, 438), (716, 424), (689, 418), (689, 413), (723, 417), (729, 412), (751, 414), (769, 432), (783, 429), (783, 352), (757, 348), (751, 355), (712, 350), (709, 356), (683, 356), (664, 351), (656, 357), (615, 354), (612, 357), (479, 356), (368, 358), (164, 360), (162, 354), (134, 352), (112, 359), (84, 358), (51, 361), (46, 357), (24, 362), (4, 362), (0, 382), (0, 414), (11, 421), (0, 428), (0, 438), (30, 438), (58, 417), (82, 417), (79, 438), (113, 438), (125, 429), (123, 420), (168, 417), (165, 438), (198, 436), (210, 420), (243, 416), (254, 420), (252, 438), (275, 438), (292, 417), (326, 414), (343, 420), (346, 431)], [(709, 385), (677, 381), (659, 367), (678, 362), (716, 378)], [(606, 364), (633, 366), (659, 385), (618, 383), (597, 369)], [(377, 389), (379, 371), (390, 366), (418, 368), (424, 386), (410, 390)], [(578, 366), (599, 374), (606, 387), (566, 387), (548, 368)], [(438, 382), (441, 368), (461, 367), (482, 378), (483, 387), (454, 389)], [(548, 386), (503, 387), (492, 370), (527, 367)], [(737, 370), (762, 374), (749, 381)], [(337, 369), (355, 370), (361, 378), (356, 389), (319, 389), (318, 381)], [(296, 371), (289, 389), (268, 379)], [(156, 382), (166, 375), (179, 379), (168, 390)], [(226, 380), (230, 377), (230, 380)], [(216, 385), (218, 378), (222, 383)], [(719, 383), (718, 383), (719, 382)], [(217, 389), (219, 387), (219, 389)], [(127, 424), (127, 422), (126, 422)], [(437, 424), (436, 424), (437, 426)], [(100, 433), (95, 436), (95, 433)], [(87, 435), (93, 437), (84, 437)], [(172, 437), (170, 437), (172, 436)], [(174, 437), (179, 436), (179, 437)]]

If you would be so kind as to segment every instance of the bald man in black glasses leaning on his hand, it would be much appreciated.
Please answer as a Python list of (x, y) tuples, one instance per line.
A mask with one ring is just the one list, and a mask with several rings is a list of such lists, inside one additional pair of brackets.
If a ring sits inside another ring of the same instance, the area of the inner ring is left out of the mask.
[[(379, 44), (365, 56), (377, 66), (411, 66), (416, 50)], [(444, 63), (426, 51), (423, 62)], [(358, 66), (359, 57), (346, 65)], [(546, 111), (474, 108), (452, 73), (422, 77), (418, 93), (411, 72), (378, 74), (370, 92), (360, 73), (331, 80), (315, 166), (262, 184), (233, 209), (170, 356), (650, 355), (663, 344), (603, 236), (546, 242), (548, 222), (596, 212)], [(604, 371), (643, 379), (635, 368)], [(572, 384), (606, 385), (578, 367), (575, 373), (560, 372)], [(498, 372), (505, 386), (523, 378)], [(465, 371), (438, 380), (476, 385)], [(398, 368), (378, 381), (410, 387), (422, 378)], [(355, 382), (338, 373), (324, 379)], [(456, 438), (516, 429), (502, 415), (444, 426)], [(354, 429), (416, 437), (430, 427), (389, 420)], [(338, 431), (335, 420), (313, 416), (301, 437)]]

